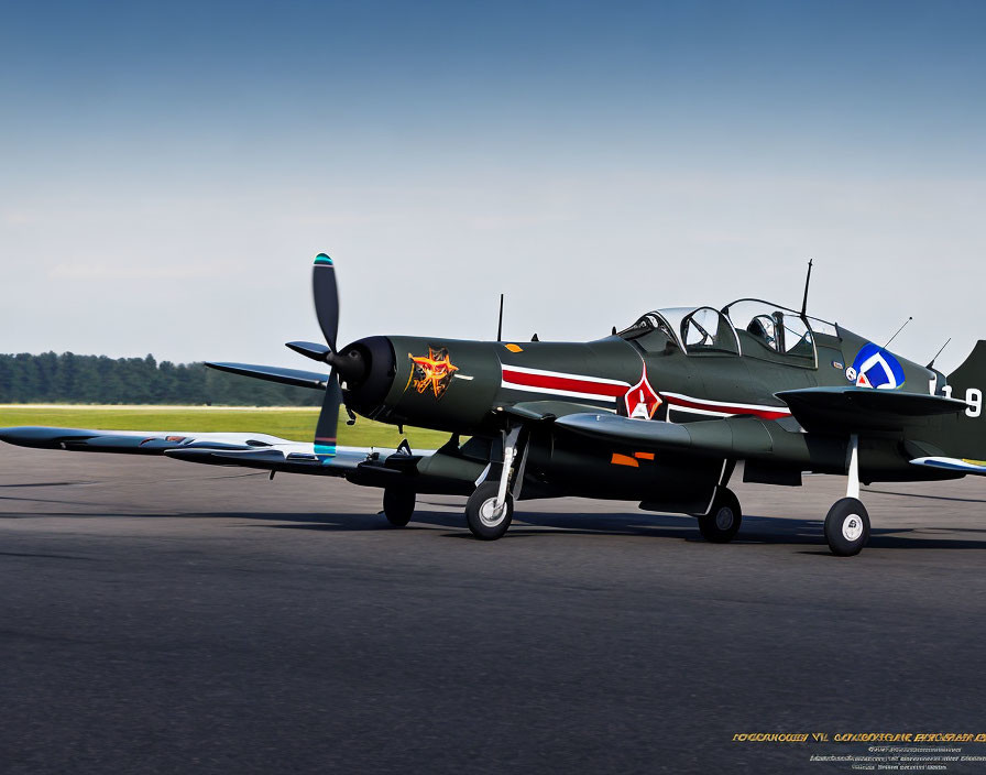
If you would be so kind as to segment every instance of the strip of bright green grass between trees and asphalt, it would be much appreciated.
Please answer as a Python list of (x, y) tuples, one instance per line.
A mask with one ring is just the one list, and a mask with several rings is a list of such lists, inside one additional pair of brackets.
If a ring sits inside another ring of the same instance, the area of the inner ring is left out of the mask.
[[(294, 441), (310, 441), (317, 419), (318, 410), (307, 407), (0, 405), (0, 427), (55, 425), (103, 430), (254, 432)], [(436, 449), (449, 437), (423, 428), (404, 430), (413, 449)], [(395, 426), (363, 417), (355, 425), (346, 425), (346, 413), (340, 412), (340, 445), (396, 447), (402, 438)]]

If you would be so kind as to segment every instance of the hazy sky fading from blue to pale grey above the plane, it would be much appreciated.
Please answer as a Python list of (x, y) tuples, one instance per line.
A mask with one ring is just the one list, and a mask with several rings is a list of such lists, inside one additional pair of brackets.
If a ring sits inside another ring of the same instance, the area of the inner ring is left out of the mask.
[(984, 42), (974, 2), (11, 3), (0, 351), (293, 363), (319, 250), (342, 339), (793, 303), (813, 255), (819, 315), (954, 364)]

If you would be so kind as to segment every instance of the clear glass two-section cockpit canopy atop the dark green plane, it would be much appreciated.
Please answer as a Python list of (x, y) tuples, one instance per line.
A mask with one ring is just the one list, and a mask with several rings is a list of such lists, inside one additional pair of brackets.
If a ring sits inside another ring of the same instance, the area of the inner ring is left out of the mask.
[(837, 336), (835, 326), (825, 320), (802, 317), (769, 302), (742, 298), (721, 310), (713, 307), (655, 309), (618, 336), (651, 351), (678, 347), (689, 356), (744, 354), (813, 367), (815, 330)]

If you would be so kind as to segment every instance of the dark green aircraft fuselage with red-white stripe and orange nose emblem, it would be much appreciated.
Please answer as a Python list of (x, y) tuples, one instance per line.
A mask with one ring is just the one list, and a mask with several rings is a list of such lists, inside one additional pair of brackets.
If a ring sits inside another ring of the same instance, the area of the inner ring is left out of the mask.
[[(831, 334), (809, 334), (800, 350), (784, 351), (776, 341), (720, 323), (720, 336), (709, 341), (717, 338), (724, 347), (689, 347), (687, 332), (673, 325), (632, 327), (584, 343), (379, 337), (375, 347), (390, 348), (393, 359), (390, 384), (377, 386), (372, 402), (361, 401), (358, 391), (347, 400), (373, 419), (473, 436), (459, 452), (443, 450), (424, 463), (449, 481), (461, 480), (462, 492), (482, 472), (484, 457), (496, 465), (496, 440), (517, 417), (533, 419), (526, 496), (574, 494), (701, 511), (711, 489), (728, 478), (737, 448), (748, 481), (798, 484), (802, 471), (845, 472), (846, 435), (803, 433), (777, 393), (854, 384), (852, 364), (863, 348), (873, 348), (868, 340), (832, 326)], [(902, 372), (895, 390), (928, 394), (943, 384), (939, 372), (880, 352)], [(651, 395), (656, 404), (648, 402)], [(694, 454), (661, 452), (552, 426), (551, 419), (573, 412), (637, 412), (646, 417), (642, 422), (688, 424), (693, 437), (710, 438)], [(708, 424), (706, 433), (699, 424), (708, 419), (727, 422)], [(868, 435), (861, 445), (862, 479), (941, 478), (908, 465), (906, 441), (900, 433)]]

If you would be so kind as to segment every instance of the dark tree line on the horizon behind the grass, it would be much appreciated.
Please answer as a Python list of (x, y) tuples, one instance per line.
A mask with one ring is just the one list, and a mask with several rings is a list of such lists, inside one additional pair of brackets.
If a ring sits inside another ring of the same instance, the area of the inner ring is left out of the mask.
[(2, 404), (317, 406), (321, 392), (237, 376), (204, 363), (72, 352), (0, 354)]

